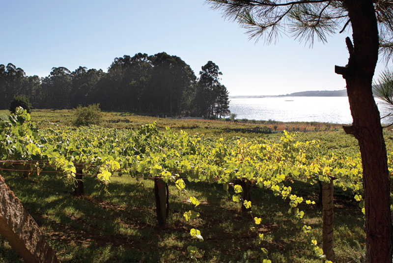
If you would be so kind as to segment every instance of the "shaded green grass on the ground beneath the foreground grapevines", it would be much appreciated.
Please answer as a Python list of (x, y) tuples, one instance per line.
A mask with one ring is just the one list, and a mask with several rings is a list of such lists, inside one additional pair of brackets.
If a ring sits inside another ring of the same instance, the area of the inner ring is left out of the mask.
[[(262, 218), (253, 232), (253, 220), (242, 216), (240, 206), (231, 201), (222, 185), (187, 182), (189, 195), (201, 201), (196, 208), (200, 218), (192, 223), (183, 218), (190, 205), (170, 185), (168, 224), (161, 229), (157, 227), (154, 184), (150, 179), (113, 177), (106, 194), (95, 179), (86, 177), (85, 196), (75, 197), (73, 185), (56, 175), (28, 179), (5, 174), (5, 178), (63, 263), (195, 262), (187, 253), (187, 246), (194, 244), (191, 228), (199, 229), (204, 237), (203, 242), (196, 243), (198, 262), (261, 262), (257, 233), (265, 235), (262, 245), (273, 262), (320, 262), (312, 253), (309, 239), (301, 233), (301, 226), (288, 215), (287, 202), (273, 196), (270, 190), (252, 189), (253, 214)], [(292, 187), (294, 192), (317, 201), (316, 186), (295, 182)], [(361, 253), (355, 241), (365, 241), (364, 219), (350, 193), (335, 191), (337, 262), (351, 262), (350, 255)], [(300, 208), (320, 244), (321, 208)], [(22, 261), (0, 238), (0, 263), (11, 262)]]

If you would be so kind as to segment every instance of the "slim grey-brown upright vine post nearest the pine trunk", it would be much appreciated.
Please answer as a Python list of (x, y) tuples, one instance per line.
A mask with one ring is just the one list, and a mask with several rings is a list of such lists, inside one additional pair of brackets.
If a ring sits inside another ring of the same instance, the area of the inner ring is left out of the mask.
[(334, 202), (333, 202), (333, 180), (330, 182), (322, 182), (322, 250), (326, 255), (326, 259), (334, 261), (335, 254), (333, 250), (334, 232), (333, 232), (333, 218), (334, 218)]

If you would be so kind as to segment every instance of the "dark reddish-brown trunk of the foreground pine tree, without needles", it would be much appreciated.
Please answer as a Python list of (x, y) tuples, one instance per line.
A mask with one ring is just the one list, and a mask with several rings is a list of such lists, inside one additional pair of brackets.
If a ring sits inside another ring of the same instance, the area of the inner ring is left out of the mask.
[(380, 115), (372, 96), (378, 60), (378, 28), (372, 0), (344, 0), (352, 25), (353, 44), (346, 44), (348, 64), (336, 66), (346, 81), (352, 126), (343, 127), (359, 141), (365, 192), (366, 262), (392, 263), (392, 221), (386, 147)]

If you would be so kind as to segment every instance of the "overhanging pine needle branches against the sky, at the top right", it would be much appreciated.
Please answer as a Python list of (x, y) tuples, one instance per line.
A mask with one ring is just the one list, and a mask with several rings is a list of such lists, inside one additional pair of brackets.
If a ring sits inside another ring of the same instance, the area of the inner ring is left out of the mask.
[[(351, 27), (348, 5), (356, 0), (206, 0), (224, 16), (247, 29), (250, 39), (262, 38), (267, 43), (288, 34), (310, 45), (317, 39), (327, 42), (328, 36)], [(380, 52), (393, 54), (391, 0), (372, 0), (378, 22)]]

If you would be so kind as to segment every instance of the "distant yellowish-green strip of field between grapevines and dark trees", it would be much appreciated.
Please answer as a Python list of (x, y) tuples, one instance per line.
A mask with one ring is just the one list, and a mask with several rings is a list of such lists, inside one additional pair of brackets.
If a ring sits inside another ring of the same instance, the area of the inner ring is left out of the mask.
[[(9, 115), (8, 110), (0, 110), (0, 117)], [(73, 110), (32, 110), (31, 118), (33, 121), (40, 123), (40, 127), (51, 126), (49, 122), (59, 126), (70, 125), (73, 116)], [(340, 124), (320, 123), (320, 122), (280, 122), (280, 121), (255, 121), (255, 122), (226, 122), (223, 120), (208, 119), (187, 119), (187, 118), (159, 118), (150, 116), (134, 115), (127, 112), (103, 112), (102, 126), (118, 129), (139, 128), (146, 123), (157, 121), (159, 127), (171, 127), (173, 129), (182, 129), (190, 133), (204, 133), (216, 136), (217, 134), (228, 136), (249, 136), (247, 131), (258, 127), (268, 127), (273, 131), (275, 126), (277, 130), (334, 130), (341, 129)], [(244, 132), (235, 132), (233, 130), (244, 129)], [(251, 136), (255, 134), (251, 133)]]

